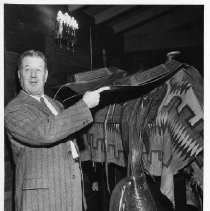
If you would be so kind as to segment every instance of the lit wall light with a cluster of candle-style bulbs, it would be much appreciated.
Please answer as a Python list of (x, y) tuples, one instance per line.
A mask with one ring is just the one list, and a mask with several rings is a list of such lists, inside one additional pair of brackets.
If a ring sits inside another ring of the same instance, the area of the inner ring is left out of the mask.
[(67, 45), (67, 49), (75, 52), (76, 31), (79, 25), (74, 17), (71, 17), (67, 12), (63, 14), (61, 11), (57, 13), (55, 24), (55, 39), (58, 41), (60, 48)]

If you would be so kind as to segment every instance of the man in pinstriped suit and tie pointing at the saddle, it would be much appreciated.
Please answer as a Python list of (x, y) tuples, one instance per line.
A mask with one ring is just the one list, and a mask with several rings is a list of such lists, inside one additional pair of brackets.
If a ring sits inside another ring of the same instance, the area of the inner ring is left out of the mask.
[(16, 210), (82, 211), (86, 206), (72, 134), (93, 121), (90, 108), (99, 104), (100, 88), (86, 92), (73, 106), (44, 95), (48, 77), (45, 56), (26, 51), (20, 56), (22, 90), (5, 108), (5, 126), (16, 164)]

